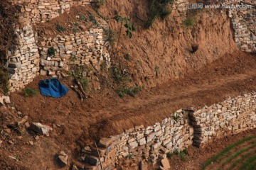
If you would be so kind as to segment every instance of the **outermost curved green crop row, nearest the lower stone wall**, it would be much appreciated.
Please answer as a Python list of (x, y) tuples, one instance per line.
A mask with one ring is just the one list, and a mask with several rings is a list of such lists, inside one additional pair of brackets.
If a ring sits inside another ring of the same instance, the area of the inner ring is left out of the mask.
[(225, 149), (223, 149), (222, 152), (220, 152), (219, 154), (215, 155), (213, 158), (211, 158), (210, 160), (208, 160), (208, 162), (206, 162), (206, 164), (203, 165), (203, 169), (206, 169), (206, 167), (208, 165), (210, 165), (212, 162), (216, 162), (218, 159), (220, 159), (220, 157), (225, 156), (226, 154), (228, 154), (227, 152), (230, 151), (230, 149), (233, 149), (234, 147), (241, 145), (242, 143), (252, 140), (254, 139), (256, 136), (250, 136), (250, 137), (245, 137), (244, 139), (235, 142), (233, 145), (229, 145), (228, 147), (226, 147)]

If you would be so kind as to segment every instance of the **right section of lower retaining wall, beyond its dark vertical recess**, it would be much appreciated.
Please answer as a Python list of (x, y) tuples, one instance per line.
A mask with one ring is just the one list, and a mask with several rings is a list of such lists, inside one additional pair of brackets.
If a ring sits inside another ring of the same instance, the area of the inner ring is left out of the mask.
[(256, 128), (256, 93), (245, 94), (190, 113), (194, 144), (204, 145), (212, 138)]

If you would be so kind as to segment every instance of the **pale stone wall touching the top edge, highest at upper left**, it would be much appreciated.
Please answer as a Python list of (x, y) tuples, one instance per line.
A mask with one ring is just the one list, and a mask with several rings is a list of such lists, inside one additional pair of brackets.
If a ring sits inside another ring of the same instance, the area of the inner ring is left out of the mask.
[(8, 0), (12, 4), (23, 6), (24, 16), (31, 23), (44, 23), (65, 11), (70, 11), (74, 5), (90, 5), (95, 0)]

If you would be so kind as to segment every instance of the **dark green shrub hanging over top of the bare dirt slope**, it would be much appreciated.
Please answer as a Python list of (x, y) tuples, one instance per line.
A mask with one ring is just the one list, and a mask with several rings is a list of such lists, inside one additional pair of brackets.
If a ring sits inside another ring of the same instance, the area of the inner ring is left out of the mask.
[(153, 26), (156, 18), (161, 18), (164, 20), (167, 16), (171, 14), (171, 4), (174, 3), (174, 0), (151, 0), (149, 8), (149, 18), (146, 21), (145, 27), (150, 28)]

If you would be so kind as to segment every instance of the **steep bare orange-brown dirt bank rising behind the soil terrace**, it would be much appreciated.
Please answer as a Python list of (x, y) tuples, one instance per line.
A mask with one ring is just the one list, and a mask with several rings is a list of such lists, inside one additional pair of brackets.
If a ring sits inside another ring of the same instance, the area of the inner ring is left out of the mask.
[[(106, 18), (112, 18), (115, 11), (131, 18), (137, 30), (129, 39), (123, 29), (119, 55), (112, 61), (122, 63), (134, 81), (146, 87), (183, 77), (189, 70), (199, 69), (238, 49), (225, 11), (199, 11), (195, 25), (188, 28), (183, 25), (185, 13), (174, 10), (164, 21), (157, 19), (149, 29), (144, 28), (150, 12), (149, 1), (106, 0), (100, 8), (100, 13)], [(112, 19), (107, 23), (118, 32), (120, 23)], [(195, 45), (198, 45), (198, 50), (192, 53)], [(131, 61), (124, 60), (126, 54), (130, 55)], [(155, 67), (159, 67), (158, 79)]]

